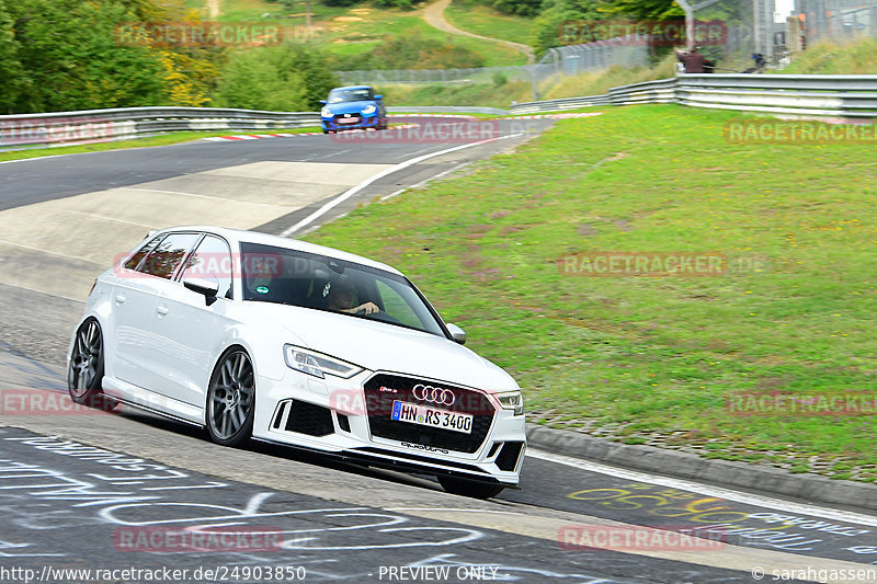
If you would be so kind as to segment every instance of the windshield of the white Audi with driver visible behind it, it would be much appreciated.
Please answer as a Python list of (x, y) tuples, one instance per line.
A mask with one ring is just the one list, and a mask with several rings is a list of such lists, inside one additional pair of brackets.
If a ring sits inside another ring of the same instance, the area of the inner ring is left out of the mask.
[(241, 243), (243, 299), (378, 320), (445, 336), (403, 276), (274, 245)]

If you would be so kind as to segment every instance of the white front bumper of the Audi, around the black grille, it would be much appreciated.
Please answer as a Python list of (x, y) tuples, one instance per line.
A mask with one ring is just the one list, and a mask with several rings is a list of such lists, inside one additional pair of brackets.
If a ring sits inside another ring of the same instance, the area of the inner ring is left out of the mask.
[[(375, 410), (375, 402), (367, 400), (364, 388), (369, 380), (388, 375), (363, 371), (351, 379), (317, 379), (288, 369), (280, 380), (259, 377), (253, 437), (373, 466), (506, 486), (520, 482), (526, 450), (524, 415), (516, 416), (510, 410), (491, 405), (489, 420), (480, 424), (481, 432), (475, 435), (476, 430), (472, 431), (477, 444), (443, 442), (437, 432), (429, 428), (412, 432), (413, 424), (389, 421), (388, 412), (386, 422), (396, 425), (394, 430), (398, 432), (387, 432), (384, 423), (383, 431), (376, 433), (376, 422), (385, 412)], [(486, 403), (496, 401), (485, 392), (469, 391), (486, 396)], [(480, 413), (480, 417), (488, 417), (487, 411)]]

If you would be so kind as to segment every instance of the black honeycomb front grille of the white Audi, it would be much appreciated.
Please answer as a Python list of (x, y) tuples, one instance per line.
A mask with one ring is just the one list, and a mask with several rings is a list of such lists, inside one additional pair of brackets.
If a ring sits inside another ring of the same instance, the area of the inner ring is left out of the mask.
[[(455, 396), (454, 403), (449, 405), (435, 404), (414, 398), (413, 390), (418, 385), (451, 390)], [(365, 391), (365, 404), (372, 436), (420, 444), (436, 449), (475, 453), (487, 438), (496, 414), (496, 409), (486, 394), (448, 383), (378, 374), (369, 379), (363, 389)], [(392, 402), (396, 400), (403, 403), (430, 405), (441, 410), (471, 414), (471, 433), (464, 434), (452, 430), (432, 428), (392, 420), (390, 414), (392, 412)]]

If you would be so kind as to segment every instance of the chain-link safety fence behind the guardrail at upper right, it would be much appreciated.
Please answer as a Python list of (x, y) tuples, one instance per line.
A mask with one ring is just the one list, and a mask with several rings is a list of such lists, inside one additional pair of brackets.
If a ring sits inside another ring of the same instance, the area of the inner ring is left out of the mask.
[[(795, 53), (822, 39), (843, 42), (859, 36), (877, 36), (877, 0), (795, 0), (790, 14), (777, 12), (777, 0), (699, 0), (688, 3), (695, 21), (692, 44), (703, 46), (707, 59), (717, 64), (716, 72), (740, 72), (752, 68), (759, 65), (753, 60), (758, 55), (762, 55), (770, 66), (782, 66), (788, 57), (794, 58)], [(781, 2), (779, 5), (785, 4)], [(586, 28), (581, 23), (569, 24), (574, 34)], [(532, 82), (535, 93), (536, 87), (553, 78), (600, 71), (613, 66), (647, 66), (650, 56), (656, 54), (656, 47), (681, 47), (687, 43), (684, 32), (673, 38), (668, 35), (658, 38), (654, 33), (660, 26), (656, 24), (660, 23), (623, 24), (628, 27), (645, 24), (648, 34), (603, 37), (597, 42), (551, 48), (534, 65), (340, 71), (338, 76), (344, 84), (490, 83), (504, 78)], [(684, 24), (679, 27), (684, 28)], [(664, 25), (664, 33), (668, 31), (670, 28)]]

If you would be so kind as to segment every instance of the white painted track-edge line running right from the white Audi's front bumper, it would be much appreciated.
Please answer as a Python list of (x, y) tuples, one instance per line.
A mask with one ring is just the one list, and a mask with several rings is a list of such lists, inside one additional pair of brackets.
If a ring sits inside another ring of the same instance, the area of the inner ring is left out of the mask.
[(793, 503), (790, 501), (783, 501), (782, 499), (773, 499), (770, 496), (756, 495), (751, 493), (742, 493), (740, 491), (732, 491), (721, 486), (713, 486), (684, 479), (671, 479), (669, 477), (660, 477), (656, 474), (648, 474), (635, 470), (627, 470), (617, 467), (610, 467), (601, 465), (600, 462), (591, 462), (590, 460), (581, 460), (562, 455), (555, 455), (545, 453), (543, 450), (535, 450), (527, 448), (527, 455), (539, 460), (547, 460), (558, 465), (566, 465), (568, 467), (588, 470), (590, 472), (599, 472), (610, 477), (618, 477), (637, 482), (648, 482), (651, 484), (659, 484), (661, 486), (669, 486), (671, 489), (681, 489), (684, 491), (694, 491), (709, 496), (717, 496), (728, 501), (736, 501), (747, 505), (758, 505), (760, 507), (767, 507), (772, 511), (784, 511), (788, 513), (797, 513), (802, 515), (813, 515), (827, 519), (834, 519), (835, 522), (855, 523), (859, 525), (867, 525), (869, 527), (877, 527), (877, 517), (873, 515), (863, 515), (848, 511), (832, 509), (828, 507), (820, 507), (807, 503)]

